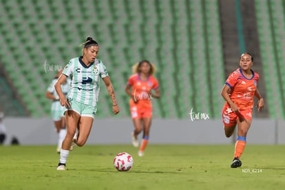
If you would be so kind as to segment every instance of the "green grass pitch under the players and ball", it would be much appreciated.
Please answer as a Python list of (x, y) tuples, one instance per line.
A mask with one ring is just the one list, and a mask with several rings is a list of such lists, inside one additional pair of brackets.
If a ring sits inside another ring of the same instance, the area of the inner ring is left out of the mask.
[[(0, 189), (284, 189), (285, 146), (246, 145), (242, 167), (231, 169), (234, 145), (75, 147), (67, 171), (56, 171), (55, 146), (0, 146)], [(126, 151), (134, 167), (116, 171)]]

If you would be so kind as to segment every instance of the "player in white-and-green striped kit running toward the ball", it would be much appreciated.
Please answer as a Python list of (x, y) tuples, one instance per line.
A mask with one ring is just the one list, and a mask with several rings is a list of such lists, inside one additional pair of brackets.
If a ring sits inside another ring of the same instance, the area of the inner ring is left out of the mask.
[[(106, 67), (102, 61), (96, 59), (99, 52), (98, 43), (92, 37), (87, 37), (83, 45), (83, 56), (71, 59), (54, 85), (57, 94), (59, 94), (61, 105), (66, 107), (65, 117), (67, 123), (67, 134), (61, 147), (57, 170), (65, 170), (76, 128), (78, 134), (73, 142), (78, 147), (82, 147), (87, 141), (97, 110), (100, 78), (103, 79), (112, 98), (114, 114), (118, 114), (120, 111)], [(65, 98), (61, 90), (61, 84), (68, 76), (71, 76), (72, 83), (70, 92)]]

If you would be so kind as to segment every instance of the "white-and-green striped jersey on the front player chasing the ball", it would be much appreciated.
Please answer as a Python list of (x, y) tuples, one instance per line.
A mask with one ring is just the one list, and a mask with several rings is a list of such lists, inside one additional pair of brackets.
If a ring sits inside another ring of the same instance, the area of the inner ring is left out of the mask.
[(72, 78), (67, 98), (72, 98), (85, 105), (97, 105), (100, 91), (100, 78), (108, 76), (102, 61), (95, 61), (86, 66), (81, 57), (71, 59), (65, 66), (63, 74)]

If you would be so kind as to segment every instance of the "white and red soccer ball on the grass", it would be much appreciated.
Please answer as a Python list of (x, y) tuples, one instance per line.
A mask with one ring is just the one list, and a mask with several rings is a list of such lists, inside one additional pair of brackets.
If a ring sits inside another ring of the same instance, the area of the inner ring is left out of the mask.
[(126, 152), (119, 153), (114, 158), (114, 167), (118, 171), (129, 171), (133, 167), (134, 160), (130, 154)]

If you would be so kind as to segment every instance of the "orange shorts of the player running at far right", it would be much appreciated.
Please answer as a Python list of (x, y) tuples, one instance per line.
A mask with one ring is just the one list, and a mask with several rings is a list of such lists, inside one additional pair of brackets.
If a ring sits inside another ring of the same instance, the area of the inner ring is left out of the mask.
[(239, 119), (253, 120), (253, 109), (244, 109), (240, 110), (240, 113), (234, 113), (231, 111), (231, 107), (224, 105), (222, 109), (222, 122), (224, 123), (224, 127), (235, 126)]

